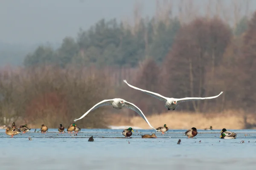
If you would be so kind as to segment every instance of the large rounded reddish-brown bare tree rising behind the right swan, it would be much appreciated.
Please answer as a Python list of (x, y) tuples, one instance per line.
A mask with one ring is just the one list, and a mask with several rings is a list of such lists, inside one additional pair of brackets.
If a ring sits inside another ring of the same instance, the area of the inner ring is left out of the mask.
[[(229, 26), (218, 18), (198, 18), (183, 26), (163, 65), (165, 95), (182, 98), (219, 94), (221, 89), (210, 93), (207, 80), (215, 79), (216, 67), (221, 62), (231, 36)], [(206, 77), (209, 72), (211, 74)], [(200, 105), (195, 101), (186, 102), (182, 108), (199, 112), (207, 108), (207, 102), (214, 100), (200, 101)]]

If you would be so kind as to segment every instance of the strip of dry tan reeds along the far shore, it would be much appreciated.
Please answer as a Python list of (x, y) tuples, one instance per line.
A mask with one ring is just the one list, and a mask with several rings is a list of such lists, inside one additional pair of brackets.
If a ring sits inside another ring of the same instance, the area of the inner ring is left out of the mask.
[[(150, 124), (157, 128), (166, 124), (169, 129), (189, 129), (191, 127), (196, 127), (197, 129), (204, 129), (206, 127), (212, 126), (213, 129), (244, 129), (248, 125), (255, 126), (256, 118), (253, 114), (246, 114), (246, 119), (244, 119), (245, 113), (226, 111), (223, 113), (178, 113), (178, 112), (168, 112), (162, 113), (160, 115), (147, 116)], [(124, 115), (112, 116), (112, 119), (108, 119), (110, 125), (121, 126), (129, 125), (141, 127), (143, 129), (150, 129), (148, 124), (140, 117), (133, 116), (128, 117)]]

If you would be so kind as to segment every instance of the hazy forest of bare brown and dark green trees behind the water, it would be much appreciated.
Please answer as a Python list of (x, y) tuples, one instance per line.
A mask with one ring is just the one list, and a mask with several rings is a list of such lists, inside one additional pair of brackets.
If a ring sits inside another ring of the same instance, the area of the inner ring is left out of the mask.
[[(162, 101), (123, 79), (175, 98), (224, 91), (217, 99), (184, 102), (177, 112), (255, 113), (256, 12), (241, 14), (249, 1), (233, 1), (229, 12), (216, 1), (214, 11), (200, 16), (191, 2), (181, 3), (175, 17), (169, 3), (158, 4), (152, 18), (142, 18), (135, 6), (133, 24), (102, 19), (77, 38), (64, 37), (57, 50), (38, 46), (22, 67), (1, 68), (0, 124), (68, 125), (112, 98), (133, 102), (145, 116), (166, 112)], [(80, 127), (107, 127), (105, 116), (116, 113), (137, 116), (108, 107), (93, 112)]]

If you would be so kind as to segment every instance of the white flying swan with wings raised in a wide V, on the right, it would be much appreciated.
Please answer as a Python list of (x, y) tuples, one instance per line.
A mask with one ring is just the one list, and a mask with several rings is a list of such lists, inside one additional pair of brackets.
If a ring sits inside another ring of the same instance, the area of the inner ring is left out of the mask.
[(162, 100), (162, 101), (166, 102), (165, 107), (168, 108), (168, 111), (171, 110), (171, 109), (174, 111), (175, 108), (177, 107), (177, 104), (180, 103), (180, 102), (187, 102), (187, 101), (192, 101), (192, 100), (214, 99), (214, 98), (220, 96), (223, 93), (223, 91), (221, 91), (221, 93), (219, 95), (212, 96), (212, 97), (185, 97), (185, 98), (181, 98), (181, 99), (175, 99), (175, 98), (165, 97), (165, 96), (162, 96), (160, 94), (157, 94), (157, 93), (154, 93), (154, 92), (151, 92), (151, 91), (146, 91), (146, 90), (134, 87), (133, 85), (130, 85), (126, 80), (124, 80), (124, 82), (128, 86), (130, 86), (131, 88), (143, 91), (145, 94), (148, 94), (150, 96), (153, 96), (153, 97), (155, 97), (159, 100)]

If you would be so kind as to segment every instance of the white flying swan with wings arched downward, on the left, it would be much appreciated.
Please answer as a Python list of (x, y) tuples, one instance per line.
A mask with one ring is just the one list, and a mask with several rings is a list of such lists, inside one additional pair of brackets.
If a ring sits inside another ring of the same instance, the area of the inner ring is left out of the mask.
[[(148, 122), (148, 119), (145, 117), (145, 115), (143, 114), (143, 112), (140, 110), (140, 108), (138, 108), (136, 105), (134, 105), (133, 103), (127, 102), (124, 99), (119, 99), (119, 98), (115, 98), (115, 99), (106, 99), (106, 100), (102, 100), (101, 102), (97, 103), (96, 105), (94, 105), (92, 108), (90, 108), (89, 111), (87, 111), (86, 113), (84, 113), (83, 116), (81, 116), (79, 119), (82, 119), (84, 116), (86, 116), (90, 111), (94, 111), (96, 108), (99, 108), (101, 106), (106, 106), (106, 105), (112, 105), (113, 108), (115, 109), (122, 109), (123, 107), (125, 108), (129, 108), (135, 112), (137, 112), (147, 123), (150, 127), (152, 127), (150, 125), (150, 123)], [(75, 119), (74, 122), (76, 122), (79, 119)], [(152, 127), (154, 130), (155, 128)]]

